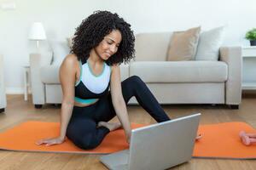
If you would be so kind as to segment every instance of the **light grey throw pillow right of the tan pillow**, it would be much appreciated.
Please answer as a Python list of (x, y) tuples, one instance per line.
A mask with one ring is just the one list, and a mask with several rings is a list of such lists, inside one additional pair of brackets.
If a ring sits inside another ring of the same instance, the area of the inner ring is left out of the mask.
[(224, 37), (224, 27), (203, 31), (200, 35), (195, 60), (218, 60), (218, 53)]

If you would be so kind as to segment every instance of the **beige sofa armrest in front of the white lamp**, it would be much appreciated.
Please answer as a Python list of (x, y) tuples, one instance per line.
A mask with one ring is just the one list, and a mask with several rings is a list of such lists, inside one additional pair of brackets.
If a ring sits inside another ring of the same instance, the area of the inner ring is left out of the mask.
[(40, 68), (43, 65), (49, 65), (51, 57), (51, 53), (30, 54), (29, 56), (32, 102), (34, 105), (44, 105), (45, 103), (44, 83), (41, 81)]

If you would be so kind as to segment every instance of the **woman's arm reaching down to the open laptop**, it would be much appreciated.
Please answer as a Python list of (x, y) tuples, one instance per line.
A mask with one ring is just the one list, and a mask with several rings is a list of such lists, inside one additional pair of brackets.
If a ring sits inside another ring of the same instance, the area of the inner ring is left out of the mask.
[(119, 121), (122, 123), (122, 126), (125, 129), (125, 135), (128, 143), (130, 142), (131, 137), (131, 125), (129, 121), (129, 116), (127, 114), (127, 109), (125, 105), (125, 99), (122, 94), (121, 80), (120, 80), (120, 69), (119, 65), (112, 66), (112, 75), (110, 82), (110, 92), (113, 102), (113, 108), (116, 112), (116, 115), (119, 118)]

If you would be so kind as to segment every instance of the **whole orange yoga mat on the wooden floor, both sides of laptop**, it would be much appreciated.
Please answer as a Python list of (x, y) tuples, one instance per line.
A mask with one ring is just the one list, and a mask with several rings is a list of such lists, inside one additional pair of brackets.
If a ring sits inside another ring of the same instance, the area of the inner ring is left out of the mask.
[[(133, 128), (145, 125), (132, 124)], [(123, 129), (108, 133), (107, 137), (94, 150), (81, 150), (67, 139), (63, 144), (52, 146), (37, 145), (38, 139), (55, 137), (58, 135), (60, 124), (57, 122), (24, 122), (3, 133), (0, 133), (0, 149), (80, 153), (80, 154), (107, 154), (128, 148), (125, 142)], [(195, 142), (194, 157), (255, 159), (256, 144), (245, 146), (241, 143), (238, 133), (244, 130), (247, 133), (256, 133), (253, 127), (244, 122), (225, 122), (211, 125), (201, 125), (198, 133), (203, 137)]]

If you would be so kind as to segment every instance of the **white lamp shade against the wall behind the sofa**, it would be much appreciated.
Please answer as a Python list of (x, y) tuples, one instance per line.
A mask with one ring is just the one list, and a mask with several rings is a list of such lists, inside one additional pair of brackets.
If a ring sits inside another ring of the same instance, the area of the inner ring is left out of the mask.
[(46, 35), (44, 26), (41, 22), (35, 22), (29, 31), (28, 39), (30, 40), (45, 40)]

